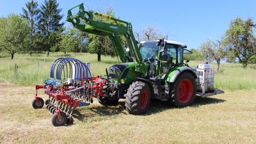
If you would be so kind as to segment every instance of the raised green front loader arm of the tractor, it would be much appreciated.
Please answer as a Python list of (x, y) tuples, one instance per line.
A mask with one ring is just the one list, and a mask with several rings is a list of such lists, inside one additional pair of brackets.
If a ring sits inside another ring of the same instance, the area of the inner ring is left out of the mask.
[[(71, 11), (77, 7), (79, 8), (79, 12), (73, 15)], [(119, 38), (119, 35), (124, 35), (125, 39), (127, 40), (127, 45), (130, 48), (131, 56), (134, 58), (134, 60), (136, 60), (138, 64), (143, 64), (140, 50), (134, 38), (130, 22), (125, 22), (124, 20), (116, 19), (102, 13), (85, 11), (83, 3), (75, 6), (74, 8), (68, 10), (67, 21), (71, 22), (75, 28), (80, 29), (86, 33), (92, 33), (100, 36), (109, 36), (113, 44), (113, 49), (116, 56), (118, 56), (122, 62), (127, 62), (124, 48)], [(93, 19), (95, 15), (113, 20), (115, 24), (95, 20)]]

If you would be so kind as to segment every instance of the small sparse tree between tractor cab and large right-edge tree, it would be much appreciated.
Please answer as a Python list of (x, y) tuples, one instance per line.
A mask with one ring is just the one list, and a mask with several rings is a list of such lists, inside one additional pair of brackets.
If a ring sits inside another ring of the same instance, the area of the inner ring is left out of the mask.
[(220, 72), (220, 61), (226, 56), (226, 51), (223, 47), (222, 40), (216, 40), (215, 42), (208, 40), (200, 46), (200, 51), (207, 61), (216, 61), (217, 72)]

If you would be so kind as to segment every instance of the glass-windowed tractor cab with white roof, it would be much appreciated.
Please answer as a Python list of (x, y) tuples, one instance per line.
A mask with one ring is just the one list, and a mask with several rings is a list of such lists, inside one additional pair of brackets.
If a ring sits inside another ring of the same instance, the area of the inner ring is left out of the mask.
[(164, 40), (163, 45), (157, 41), (143, 41), (140, 43), (140, 53), (145, 63), (149, 65), (149, 77), (164, 77), (168, 70), (183, 63), (183, 49), (185, 44)]

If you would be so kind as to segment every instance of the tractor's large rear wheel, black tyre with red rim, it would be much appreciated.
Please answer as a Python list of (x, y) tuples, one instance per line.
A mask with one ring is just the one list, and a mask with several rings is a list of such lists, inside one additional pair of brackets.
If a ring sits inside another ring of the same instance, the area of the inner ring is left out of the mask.
[(175, 107), (184, 107), (193, 104), (196, 94), (195, 77), (184, 72), (171, 84), (168, 102)]

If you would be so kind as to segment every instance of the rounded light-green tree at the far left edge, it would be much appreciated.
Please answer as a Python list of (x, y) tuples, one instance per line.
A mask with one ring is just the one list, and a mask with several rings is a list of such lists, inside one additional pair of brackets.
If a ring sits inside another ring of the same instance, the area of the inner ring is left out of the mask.
[(29, 26), (26, 20), (19, 15), (9, 15), (0, 20), (0, 47), (13, 56), (24, 49), (24, 41), (29, 35)]

